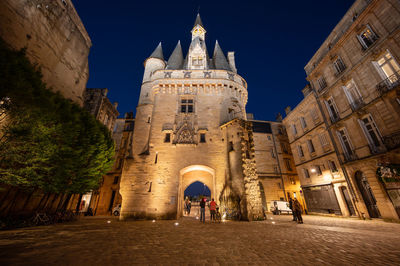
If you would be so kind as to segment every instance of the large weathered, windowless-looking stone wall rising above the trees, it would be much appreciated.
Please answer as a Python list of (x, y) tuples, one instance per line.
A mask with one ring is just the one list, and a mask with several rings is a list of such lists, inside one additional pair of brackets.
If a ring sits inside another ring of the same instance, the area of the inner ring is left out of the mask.
[(0, 37), (26, 48), (49, 88), (83, 104), (92, 43), (70, 0), (1, 1)]

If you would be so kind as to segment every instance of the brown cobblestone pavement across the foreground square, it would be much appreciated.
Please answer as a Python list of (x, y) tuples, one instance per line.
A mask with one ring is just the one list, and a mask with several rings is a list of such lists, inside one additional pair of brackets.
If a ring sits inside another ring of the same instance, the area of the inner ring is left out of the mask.
[(399, 263), (400, 224), (321, 216), (304, 224), (283, 215), (221, 224), (91, 217), (0, 232), (0, 265)]

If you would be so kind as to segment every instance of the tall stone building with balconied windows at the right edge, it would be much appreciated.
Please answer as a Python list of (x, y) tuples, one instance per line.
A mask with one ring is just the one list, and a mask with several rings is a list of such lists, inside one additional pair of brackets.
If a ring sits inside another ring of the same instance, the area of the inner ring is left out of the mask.
[(356, 211), (399, 219), (399, 1), (355, 1), (305, 71)]

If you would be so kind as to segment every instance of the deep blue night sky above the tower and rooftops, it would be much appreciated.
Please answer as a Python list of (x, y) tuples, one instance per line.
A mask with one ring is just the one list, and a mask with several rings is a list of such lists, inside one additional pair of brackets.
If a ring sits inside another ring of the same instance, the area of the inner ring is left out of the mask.
[(247, 112), (275, 120), (297, 105), (305, 86), (304, 66), (353, 0), (288, 1), (74, 1), (93, 46), (88, 87), (108, 88), (121, 114), (134, 111), (143, 62), (162, 41), (168, 59), (178, 40), (186, 54), (200, 5), (212, 54), (218, 39), (235, 51), (248, 82)]

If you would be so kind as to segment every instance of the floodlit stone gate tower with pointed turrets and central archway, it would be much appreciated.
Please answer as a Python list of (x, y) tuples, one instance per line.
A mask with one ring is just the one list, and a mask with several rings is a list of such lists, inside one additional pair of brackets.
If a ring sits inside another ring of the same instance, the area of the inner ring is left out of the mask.
[(180, 42), (164, 60), (161, 43), (144, 62), (130, 156), (122, 170), (121, 219), (175, 219), (185, 189), (206, 184), (222, 210), (262, 219), (247, 83), (234, 53), (218, 42), (210, 57), (200, 16), (186, 57)]

